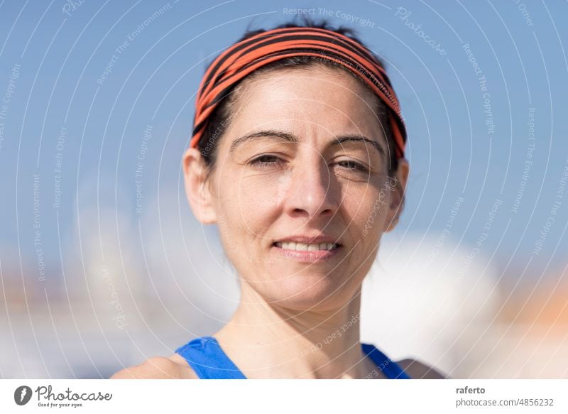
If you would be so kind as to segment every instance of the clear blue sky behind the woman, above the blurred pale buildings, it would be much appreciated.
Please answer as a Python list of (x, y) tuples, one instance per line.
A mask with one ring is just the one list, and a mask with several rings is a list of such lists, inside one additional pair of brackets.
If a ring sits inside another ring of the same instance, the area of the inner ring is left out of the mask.
[[(73, 260), (62, 252), (85, 238), (135, 242), (165, 216), (184, 229), (173, 238), (200, 239), (180, 160), (204, 68), (246, 28), (283, 23), (294, 9), (355, 28), (387, 62), (412, 166), (388, 237), (443, 234), (508, 275), (566, 266), (565, 2), (71, 3), (0, 5), (4, 270), (38, 274), (43, 261), (58, 275)], [(148, 214), (163, 195), (174, 196)], [(80, 232), (86, 209), (97, 209), (98, 235)], [(134, 234), (120, 233), (124, 222)]]

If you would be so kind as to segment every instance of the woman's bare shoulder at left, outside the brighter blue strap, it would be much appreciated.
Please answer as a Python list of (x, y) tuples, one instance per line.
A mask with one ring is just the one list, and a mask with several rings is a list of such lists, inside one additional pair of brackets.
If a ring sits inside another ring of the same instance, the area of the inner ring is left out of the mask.
[(197, 375), (178, 354), (153, 356), (142, 364), (121, 369), (110, 379), (197, 379)]

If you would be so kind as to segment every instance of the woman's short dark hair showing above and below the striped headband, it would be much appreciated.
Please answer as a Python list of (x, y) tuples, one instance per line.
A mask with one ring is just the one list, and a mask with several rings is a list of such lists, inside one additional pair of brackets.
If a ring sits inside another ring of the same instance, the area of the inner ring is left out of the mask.
[[(360, 43), (362, 46), (366, 48), (364, 43), (362, 43), (361, 40), (359, 40), (359, 38), (357, 38), (354, 35), (353, 29), (346, 28), (344, 26), (339, 26), (337, 28), (334, 28), (330, 26), (329, 23), (327, 23), (327, 21), (321, 21), (319, 23), (315, 23), (314, 21), (311, 21), (308, 18), (303, 18), (301, 24), (285, 23), (280, 26), (276, 26), (275, 28), (291, 28), (291, 27), (312, 27), (312, 28), (327, 29), (342, 34), (344, 36), (348, 36), (349, 38), (355, 40), (357, 43)], [(246, 31), (244, 36), (242, 36), (239, 40), (237, 40), (236, 43), (239, 43), (243, 40), (251, 38), (252, 36), (255, 36), (259, 33), (263, 33), (265, 31), (266, 31), (265, 29)], [(369, 50), (369, 53), (371, 53), (379, 62), (381, 62), (381, 65), (383, 64), (382, 60), (378, 58), (378, 56), (376, 56), (374, 53), (372, 53), (371, 50)], [(314, 65), (325, 65), (327, 67), (332, 67), (334, 69), (340, 69), (346, 73), (349, 73), (349, 75), (355, 77), (359, 82), (361, 82), (361, 85), (365, 85), (364, 82), (359, 77), (356, 77), (356, 75), (351, 73), (350, 70), (347, 70), (339, 63), (332, 62), (330, 60), (322, 58), (316, 58), (313, 56), (293, 56), (282, 60), (276, 60), (275, 62), (271, 62), (268, 65), (265, 65), (263, 67), (260, 67), (258, 70), (255, 70), (254, 72), (251, 73), (251, 75), (245, 77), (244, 80), (249, 80), (252, 77), (260, 75), (261, 73), (273, 72), (275, 70), (281, 70), (281, 69), (291, 69), (295, 67), (310, 67)], [(234, 85), (228, 91), (226, 91), (224, 99), (222, 99), (222, 102), (212, 112), (211, 117), (209, 119), (209, 123), (207, 124), (207, 127), (204, 131), (204, 134), (200, 138), (200, 141), (197, 143), (197, 148), (200, 150), (204, 163), (207, 166), (209, 172), (214, 168), (215, 162), (217, 161), (217, 142), (219, 141), (219, 138), (221, 138), (226, 127), (229, 125), (231, 121), (231, 110), (233, 109), (233, 105), (237, 97), (237, 94), (234, 92), (236, 92), (236, 89), (239, 87), (239, 85), (240, 82)], [(368, 88), (367, 85), (365, 85), (365, 87)], [(368, 89), (371, 90), (370, 88)], [(376, 97), (374, 92), (373, 96)], [(376, 97), (376, 114), (378, 116), (378, 120), (383, 126), (383, 132), (388, 144), (387, 150), (388, 150), (388, 156), (390, 158), (388, 164), (388, 173), (389, 175), (393, 175), (393, 173), (398, 168), (398, 158), (395, 153), (396, 143), (391, 131), (391, 126), (388, 122), (388, 112), (386, 106), (379, 97)]]

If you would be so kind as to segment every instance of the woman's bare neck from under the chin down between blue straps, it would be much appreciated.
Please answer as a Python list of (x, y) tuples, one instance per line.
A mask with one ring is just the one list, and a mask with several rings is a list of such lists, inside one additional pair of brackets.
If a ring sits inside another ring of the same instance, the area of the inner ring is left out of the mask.
[(361, 291), (333, 311), (269, 305), (250, 286), (214, 337), (247, 378), (364, 378), (376, 369), (359, 342)]

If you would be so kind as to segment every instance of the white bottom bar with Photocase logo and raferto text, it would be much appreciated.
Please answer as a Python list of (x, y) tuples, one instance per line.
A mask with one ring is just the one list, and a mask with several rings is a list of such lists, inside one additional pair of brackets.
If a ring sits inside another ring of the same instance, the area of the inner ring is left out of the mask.
[(0, 381), (0, 413), (568, 413), (567, 390), (568, 380), (23, 379)]

